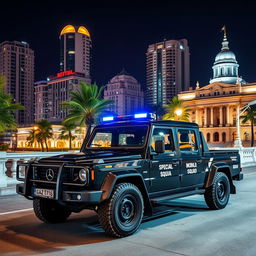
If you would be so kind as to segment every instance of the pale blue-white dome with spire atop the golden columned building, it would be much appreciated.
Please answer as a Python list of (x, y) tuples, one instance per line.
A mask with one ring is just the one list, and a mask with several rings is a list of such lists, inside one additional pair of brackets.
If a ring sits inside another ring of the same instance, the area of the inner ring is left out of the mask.
[(236, 55), (229, 50), (226, 29), (224, 28), (224, 38), (222, 41), (221, 51), (216, 55), (213, 64), (213, 78), (210, 84), (215, 82), (236, 84), (245, 83), (241, 77), (238, 76), (238, 63)]

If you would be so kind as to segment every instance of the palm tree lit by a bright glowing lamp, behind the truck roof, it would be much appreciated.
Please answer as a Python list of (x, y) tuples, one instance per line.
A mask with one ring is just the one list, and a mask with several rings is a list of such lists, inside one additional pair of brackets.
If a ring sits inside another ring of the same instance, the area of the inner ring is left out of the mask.
[(183, 101), (174, 96), (170, 103), (164, 106), (166, 114), (164, 120), (189, 121), (190, 109), (183, 105)]

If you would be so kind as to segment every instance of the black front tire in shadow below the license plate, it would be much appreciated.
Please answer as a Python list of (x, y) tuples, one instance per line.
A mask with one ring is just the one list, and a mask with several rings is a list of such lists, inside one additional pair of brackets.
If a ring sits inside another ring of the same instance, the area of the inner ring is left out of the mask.
[(71, 211), (65, 206), (44, 198), (35, 198), (33, 208), (37, 218), (45, 223), (65, 222), (71, 214)]

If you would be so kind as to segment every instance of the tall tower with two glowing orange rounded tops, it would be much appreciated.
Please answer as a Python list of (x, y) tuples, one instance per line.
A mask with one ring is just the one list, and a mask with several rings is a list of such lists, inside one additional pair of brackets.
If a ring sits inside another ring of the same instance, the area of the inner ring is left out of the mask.
[(91, 45), (84, 26), (65, 26), (60, 32), (60, 72), (72, 70), (90, 78)]

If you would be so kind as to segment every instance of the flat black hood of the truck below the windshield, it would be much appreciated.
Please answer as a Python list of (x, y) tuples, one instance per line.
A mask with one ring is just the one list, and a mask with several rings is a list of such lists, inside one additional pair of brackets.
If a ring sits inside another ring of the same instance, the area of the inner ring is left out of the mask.
[(140, 159), (141, 155), (132, 154), (131, 152), (115, 152), (115, 151), (93, 151), (93, 152), (79, 152), (68, 153), (62, 155), (41, 158), (38, 163), (55, 162), (55, 163), (97, 163), (98, 161), (115, 162), (131, 159)]

